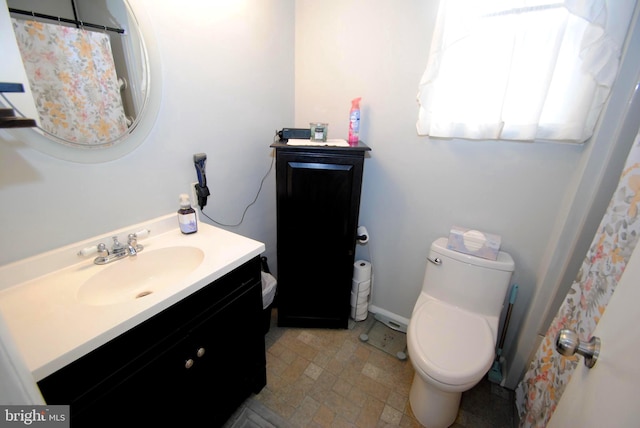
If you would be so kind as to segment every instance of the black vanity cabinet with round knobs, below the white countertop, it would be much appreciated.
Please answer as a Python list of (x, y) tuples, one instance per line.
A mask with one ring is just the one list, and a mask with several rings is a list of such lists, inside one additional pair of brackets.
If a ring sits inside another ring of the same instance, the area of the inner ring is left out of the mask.
[(223, 425), (266, 384), (255, 257), (38, 383), (75, 427)]

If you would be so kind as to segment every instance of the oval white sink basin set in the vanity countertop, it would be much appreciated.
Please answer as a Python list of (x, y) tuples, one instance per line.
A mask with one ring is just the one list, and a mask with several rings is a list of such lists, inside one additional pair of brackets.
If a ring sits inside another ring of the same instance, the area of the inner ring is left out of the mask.
[(141, 299), (176, 284), (193, 272), (204, 252), (196, 247), (167, 247), (142, 251), (113, 262), (89, 278), (78, 290), (78, 300), (95, 306)]

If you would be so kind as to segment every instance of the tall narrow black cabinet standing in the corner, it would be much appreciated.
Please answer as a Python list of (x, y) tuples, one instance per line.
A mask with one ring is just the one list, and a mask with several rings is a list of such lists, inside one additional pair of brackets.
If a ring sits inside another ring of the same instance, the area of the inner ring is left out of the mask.
[(276, 150), (278, 325), (347, 328), (365, 153)]

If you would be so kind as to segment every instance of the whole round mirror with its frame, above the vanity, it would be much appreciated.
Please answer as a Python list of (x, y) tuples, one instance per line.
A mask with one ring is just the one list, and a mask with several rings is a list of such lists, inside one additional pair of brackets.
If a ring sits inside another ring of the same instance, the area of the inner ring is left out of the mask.
[(7, 0), (26, 73), (2, 100), (37, 128), (21, 141), (76, 162), (135, 149), (155, 123), (160, 65), (144, 10), (126, 0)]

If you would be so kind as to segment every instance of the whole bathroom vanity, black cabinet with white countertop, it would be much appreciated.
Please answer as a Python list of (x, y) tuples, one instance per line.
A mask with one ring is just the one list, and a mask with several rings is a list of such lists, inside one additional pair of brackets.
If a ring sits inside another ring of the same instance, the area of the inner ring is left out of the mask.
[[(166, 249), (201, 250), (202, 261), (175, 286), (147, 285), (124, 301), (82, 300), (92, 278), (110, 275), (108, 266), (86, 260), (0, 291), (0, 310), (43, 397), (70, 404), (74, 427), (220, 426), (266, 384), (264, 244), (206, 224), (182, 235), (175, 215), (165, 220), (168, 230), (162, 221), (150, 226), (160, 236), (142, 240), (139, 259), (120, 266), (134, 272), (144, 268), (145, 253), (152, 260)], [(75, 256), (76, 248), (64, 251)], [(166, 269), (158, 281), (171, 263)], [(34, 304), (42, 310), (29, 313)]]

